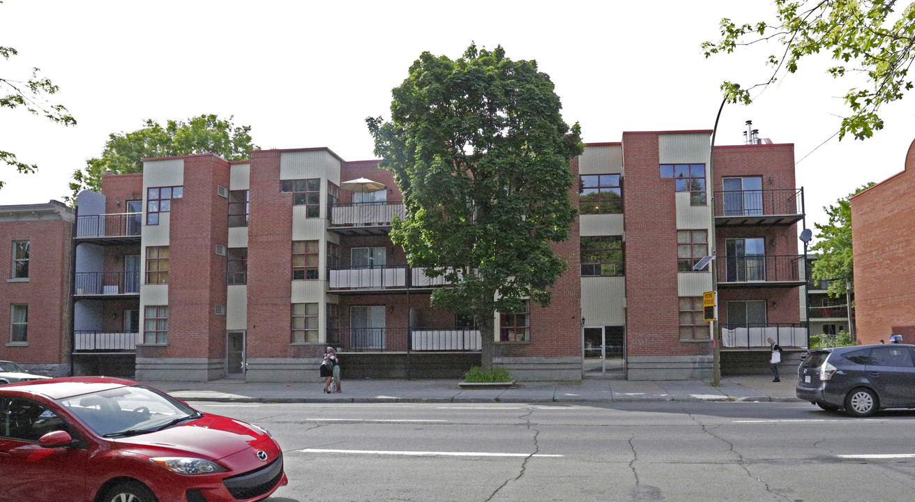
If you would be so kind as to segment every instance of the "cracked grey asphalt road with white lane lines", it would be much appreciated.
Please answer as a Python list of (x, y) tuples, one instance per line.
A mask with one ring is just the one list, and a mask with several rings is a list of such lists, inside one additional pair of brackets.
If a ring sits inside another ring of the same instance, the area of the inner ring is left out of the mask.
[(915, 411), (851, 419), (780, 402), (190, 404), (274, 434), (289, 477), (274, 502), (915, 498)]

